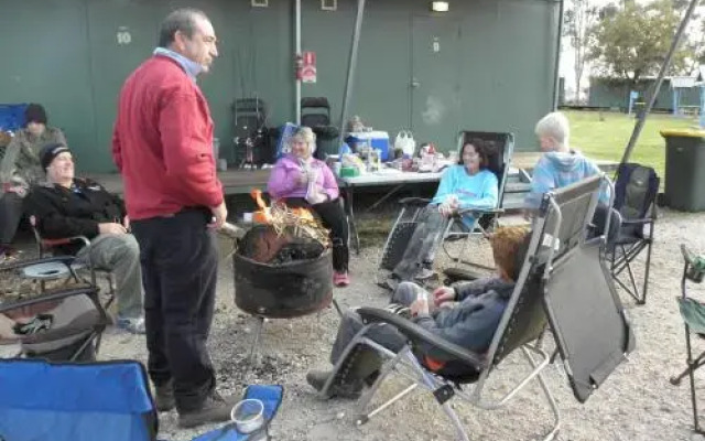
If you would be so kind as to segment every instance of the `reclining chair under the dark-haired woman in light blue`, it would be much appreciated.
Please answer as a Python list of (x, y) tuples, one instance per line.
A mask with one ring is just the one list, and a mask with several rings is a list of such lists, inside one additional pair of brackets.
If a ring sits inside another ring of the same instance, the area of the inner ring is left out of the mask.
[[(466, 141), (474, 138), (479, 138), (489, 144), (489, 164), (488, 170), (497, 175), (497, 182), (499, 185), (497, 206), (492, 209), (465, 209), (458, 213), (445, 225), (444, 240), (442, 240), (443, 248), (448, 256), (458, 263), (470, 263), (467, 260), (462, 260), (466, 256), (468, 246), (473, 243), (474, 238), (478, 236), (485, 236), (488, 229), (495, 227), (497, 218), (501, 213), (501, 204), (505, 195), (505, 186), (507, 184), (507, 175), (509, 173), (509, 164), (512, 153), (514, 151), (514, 136), (512, 133), (498, 133), (498, 132), (484, 132), (484, 131), (463, 131), (458, 136), (458, 151), (463, 148)], [(392, 271), (394, 267), (402, 259), (406, 245), (414, 234), (416, 225), (419, 225), (419, 216), (424, 207), (429, 205), (431, 200), (421, 197), (405, 197), (400, 201), (402, 206), (401, 212), (397, 216), (397, 220), (392, 225), (391, 232), (387, 237), (384, 246), (380, 252), (379, 268), (386, 271)], [(463, 223), (464, 216), (473, 216), (475, 223), (473, 227), (468, 227)], [(446, 248), (446, 240), (462, 239), (463, 245), (460, 251), (453, 256)], [(446, 271), (456, 276), (456, 278), (470, 278), (467, 276), (467, 271), (458, 266), (447, 269)], [(447, 275), (452, 276), (452, 275)]]

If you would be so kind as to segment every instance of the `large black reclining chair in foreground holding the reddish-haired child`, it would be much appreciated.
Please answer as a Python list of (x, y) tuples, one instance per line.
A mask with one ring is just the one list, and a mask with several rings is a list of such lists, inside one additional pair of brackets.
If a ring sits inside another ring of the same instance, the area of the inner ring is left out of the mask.
[[(457, 439), (468, 440), (459, 418), (451, 407), (451, 398), (457, 395), (482, 409), (496, 409), (507, 404), (532, 379), (538, 379), (554, 416), (554, 423), (544, 439), (553, 439), (561, 422), (557, 405), (543, 377), (543, 369), (551, 359), (539, 343), (544, 329), (550, 326), (553, 331), (574, 395), (581, 402), (603, 385), (633, 348), (629, 322), (609, 271), (600, 259), (604, 238), (586, 241), (586, 227), (593, 218), (600, 181), (599, 176), (594, 176), (544, 195), (524, 265), (487, 353), (474, 353), (444, 341), (388, 310), (361, 308), (358, 313), (366, 326), (339, 357), (340, 362), (334, 367), (334, 375), (322, 389), (321, 396), (327, 396), (328, 389), (341, 380), (347, 355), (356, 351), (358, 344), (368, 345), (391, 359), (360, 398), (361, 416), (358, 423), (367, 422), (392, 402), (422, 386), (432, 392), (451, 418)], [(576, 279), (579, 279), (579, 283), (575, 282)], [(400, 353), (394, 354), (367, 337), (372, 326), (381, 325), (395, 326), (408, 338), (408, 345)], [(446, 366), (453, 364), (456, 375), (444, 375), (443, 368), (434, 372), (426, 366), (421, 348), (429, 345), (434, 348), (435, 361)], [(521, 348), (531, 372), (501, 399), (488, 401), (482, 396), (488, 376), (517, 348)], [(438, 357), (438, 353), (444, 356)], [(465, 367), (465, 375), (457, 375), (458, 366)], [(388, 375), (394, 370), (402, 374), (408, 370), (400, 367), (411, 370), (405, 376), (414, 383), (377, 409), (366, 412), (365, 409)], [(470, 383), (475, 383), (475, 387), (469, 391), (464, 390), (463, 386)]]

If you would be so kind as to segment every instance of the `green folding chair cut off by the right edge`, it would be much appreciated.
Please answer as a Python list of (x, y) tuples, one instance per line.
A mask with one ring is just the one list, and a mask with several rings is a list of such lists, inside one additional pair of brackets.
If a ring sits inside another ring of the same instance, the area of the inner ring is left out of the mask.
[(705, 338), (705, 304), (687, 294), (687, 282), (702, 283), (705, 276), (705, 256), (694, 255), (685, 245), (681, 245), (683, 252), (683, 277), (681, 278), (682, 295), (679, 300), (679, 308), (683, 324), (685, 325), (685, 348), (687, 351), (686, 368), (679, 375), (671, 377), (671, 384), (679, 386), (685, 376), (690, 377), (691, 384), (691, 404), (693, 406), (693, 427), (694, 431), (705, 434), (705, 430), (701, 428), (697, 413), (697, 397), (695, 388), (695, 370), (705, 365), (705, 351), (697, 357), (693, 357), (693, 342), (691, 334), (696, 334), (701, 338)]

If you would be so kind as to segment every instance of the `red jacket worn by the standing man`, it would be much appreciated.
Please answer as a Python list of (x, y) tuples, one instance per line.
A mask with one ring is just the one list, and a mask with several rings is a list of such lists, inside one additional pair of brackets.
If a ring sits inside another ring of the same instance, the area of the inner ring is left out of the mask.
[(214, 207), (223, 186), (206, 98), (175, 61), (155, 55), (124, 82), (112, 133), (128, 215), (144, 219)]

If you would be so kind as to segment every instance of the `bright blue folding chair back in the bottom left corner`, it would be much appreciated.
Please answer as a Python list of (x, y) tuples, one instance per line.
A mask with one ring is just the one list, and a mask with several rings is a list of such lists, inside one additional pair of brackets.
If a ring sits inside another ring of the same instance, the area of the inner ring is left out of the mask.
[(2, 440), (156, 440), (156, 410), (138, 362), (0, 359), (0, 378)]

